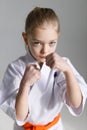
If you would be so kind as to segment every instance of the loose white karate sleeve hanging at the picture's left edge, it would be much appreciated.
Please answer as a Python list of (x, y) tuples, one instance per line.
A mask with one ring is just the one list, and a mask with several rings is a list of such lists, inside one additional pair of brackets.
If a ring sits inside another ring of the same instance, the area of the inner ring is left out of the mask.
[(0, 108), (15, 120), (15, 99), (21, 80), (19, 70), (9, 65), (0, 85)]

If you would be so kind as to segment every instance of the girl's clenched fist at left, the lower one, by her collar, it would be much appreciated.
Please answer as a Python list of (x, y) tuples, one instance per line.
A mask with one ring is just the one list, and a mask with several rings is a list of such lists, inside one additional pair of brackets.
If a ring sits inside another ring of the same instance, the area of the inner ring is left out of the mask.
[(36, 65), (27, 65), (23, 78), (21, 80), (21, 86), (31, 87), (40, 78), (40, 70)]

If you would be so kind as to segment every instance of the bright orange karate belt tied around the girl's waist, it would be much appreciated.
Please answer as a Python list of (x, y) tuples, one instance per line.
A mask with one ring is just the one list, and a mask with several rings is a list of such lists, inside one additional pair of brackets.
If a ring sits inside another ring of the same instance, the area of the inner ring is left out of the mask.
[(47, 130), (49, 128), (51, 128), (53, 125), (55, 125), (60, 119), (60, 114), (58, 114), (58, 116), (50, 123), (48, 123), (47, 125), (34, 125), (31, 124), (29, 122), (25, 123), (22, 127), (25, 130)]

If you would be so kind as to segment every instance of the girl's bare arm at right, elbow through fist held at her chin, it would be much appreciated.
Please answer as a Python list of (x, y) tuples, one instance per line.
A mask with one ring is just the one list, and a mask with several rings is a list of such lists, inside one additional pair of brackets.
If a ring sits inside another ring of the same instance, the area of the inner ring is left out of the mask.
[(80, 86), (67, 61), (57, 53), (52, 53), (47, 56), (46, 64), (52, 69), (57, 69), (65, 74), (67, 84), (66, 96), (69, 104), (76, 108), (79, 107), (82, 102)]

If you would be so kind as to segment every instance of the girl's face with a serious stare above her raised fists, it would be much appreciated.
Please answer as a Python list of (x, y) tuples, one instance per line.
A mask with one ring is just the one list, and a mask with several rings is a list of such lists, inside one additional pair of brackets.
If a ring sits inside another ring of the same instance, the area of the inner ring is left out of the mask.
[(46, 56), (55, 52), (59, 34), (51, 24), (36, 28), (25, 40), (38, 63), (46, 61)]

